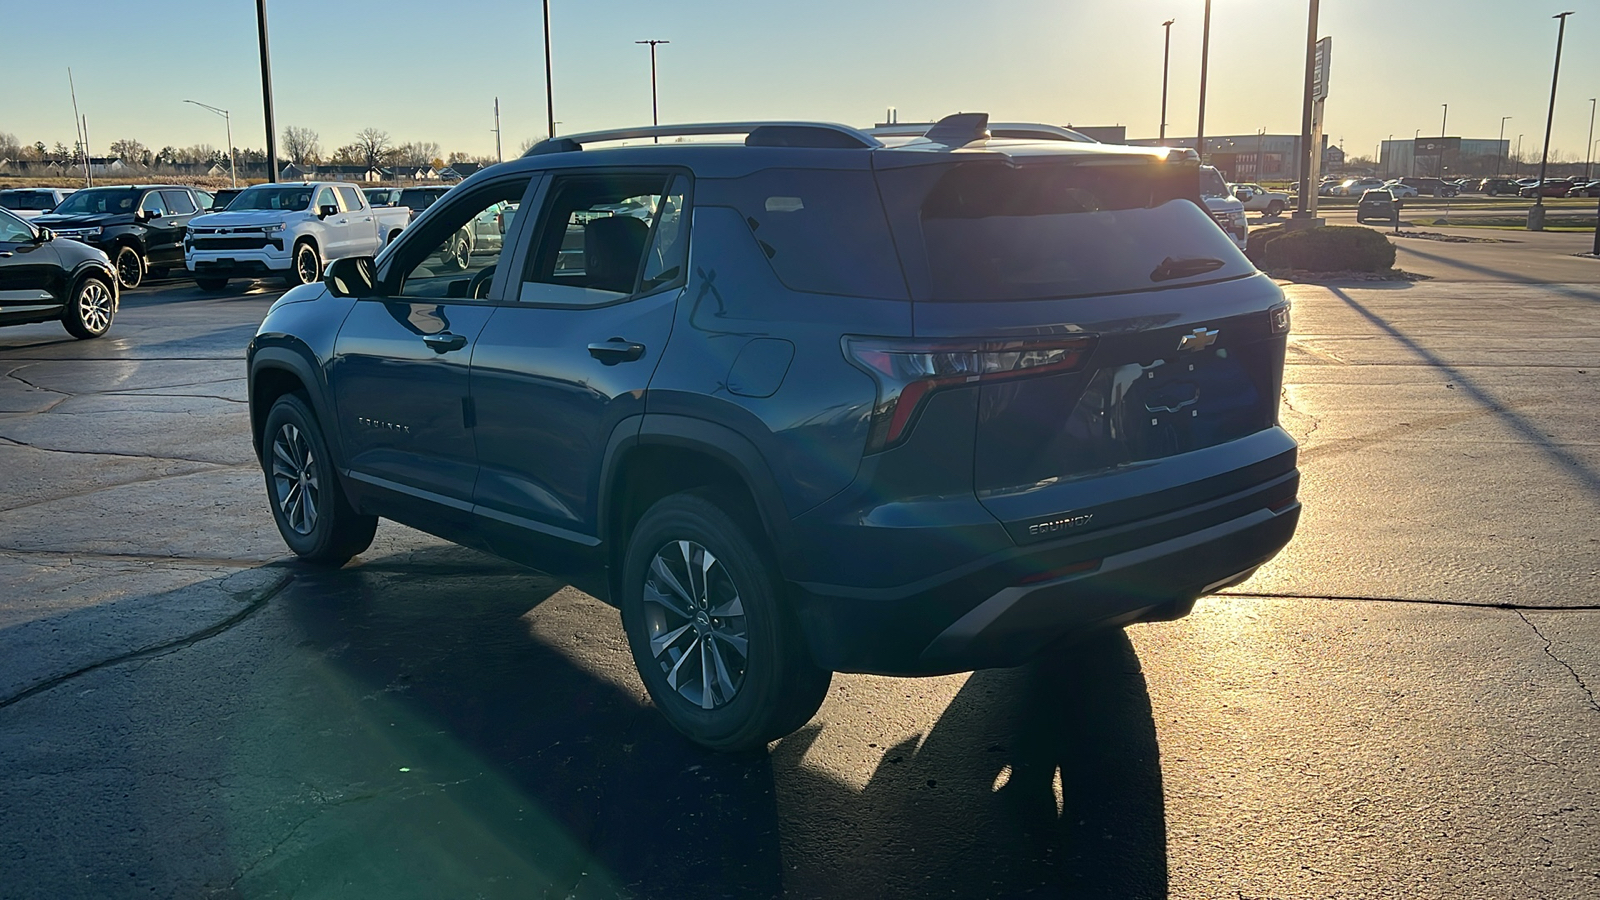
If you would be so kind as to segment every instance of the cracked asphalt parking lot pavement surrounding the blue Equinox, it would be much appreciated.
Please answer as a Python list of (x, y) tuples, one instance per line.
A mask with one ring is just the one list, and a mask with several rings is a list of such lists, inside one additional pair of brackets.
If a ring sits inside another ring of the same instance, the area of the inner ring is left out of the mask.
[(275, 290), (0, 330), (0, 895), (1600, 894), (1600, 263), (1504, 237), (1285, 288), (1306, 511), (1251, 581), (837, 676), (758, 756), (672, 732), (557, 580), (387, 522), (291, 562), (243, 405)]

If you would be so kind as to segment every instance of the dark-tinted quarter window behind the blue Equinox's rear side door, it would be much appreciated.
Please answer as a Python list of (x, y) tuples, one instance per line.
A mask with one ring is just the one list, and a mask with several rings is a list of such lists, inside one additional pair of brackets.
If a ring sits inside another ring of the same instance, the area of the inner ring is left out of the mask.
[(738, 210), (784, 287), (906, 298), (870, 171), (768, 168), (699, 184), (698, 205)]

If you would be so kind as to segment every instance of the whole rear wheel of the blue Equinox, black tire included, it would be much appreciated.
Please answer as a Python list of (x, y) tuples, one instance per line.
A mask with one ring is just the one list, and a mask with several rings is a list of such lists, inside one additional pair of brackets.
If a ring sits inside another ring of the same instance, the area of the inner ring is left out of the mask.
[(651, 506), (627, 543), (621, 607), (634, 663), (667, 722), (709, 749), (742, 751), (811, 719), (834, 673), (811, 661), (776, 565), (750, 543), (760, 528), (706, 492)]

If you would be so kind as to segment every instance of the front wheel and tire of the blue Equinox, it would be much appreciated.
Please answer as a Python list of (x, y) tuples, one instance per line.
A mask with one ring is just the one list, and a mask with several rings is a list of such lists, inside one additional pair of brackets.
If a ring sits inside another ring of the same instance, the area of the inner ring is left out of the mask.
[(322, 426), (299, 394), (272, 404), (261, 458), (272, 519), (296, 556), (339, 567), (373, 544), (378, 516), (362, 516), (346, 500)]

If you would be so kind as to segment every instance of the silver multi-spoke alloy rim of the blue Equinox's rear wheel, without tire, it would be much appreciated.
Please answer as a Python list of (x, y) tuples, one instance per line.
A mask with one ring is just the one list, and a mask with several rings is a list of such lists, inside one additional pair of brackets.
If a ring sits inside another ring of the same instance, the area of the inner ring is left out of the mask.
[(645, 629), (667, 685), (701, 709), (730, 703), (749, 669), (744, 602), (728, 569), (694, 541), (656, 551), (645, 577)]

